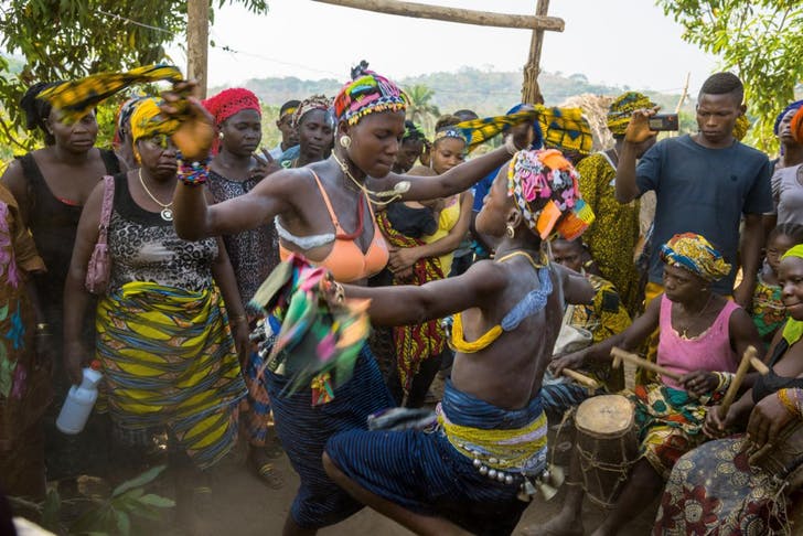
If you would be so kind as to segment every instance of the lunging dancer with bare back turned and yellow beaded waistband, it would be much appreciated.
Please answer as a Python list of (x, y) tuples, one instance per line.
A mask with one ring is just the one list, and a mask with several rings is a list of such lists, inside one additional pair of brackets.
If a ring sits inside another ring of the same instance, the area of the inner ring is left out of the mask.
[(550, 265), (540, 249), (556, 224), (539, 218), (545, 207), (557, 212), (560, 232), (574, 216), (569, 162), (558, 151), (521, 151), (508, 170), (478, 216), (480, 231), (500, 239), (494, 260), (420, 287), (345, 288), (345, 296), (370, 298), (368, 314), (382, 324), (457, 313), (457, 357), (437, 430), (346, 431), (324, 454), (336, 483), (418, 534), (515, 528), (546, 469), (540, 382), (564, 299), (591, 299), (582, 277)]

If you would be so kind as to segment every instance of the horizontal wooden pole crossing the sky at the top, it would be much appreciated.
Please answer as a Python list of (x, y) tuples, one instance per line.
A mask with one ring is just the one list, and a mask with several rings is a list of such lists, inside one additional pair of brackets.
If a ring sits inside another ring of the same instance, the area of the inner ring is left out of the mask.
[(490, 11), (473, 11), (467, 9), (446, 8), (442, 6), (427, 6), (425, 3), (404, 2), (400, 0), (313, 0), (321, 3), (331, 3), (344, 8), (376, 11), (385, 14), (414, 17), (417, 19), (432, 19), (447, 22), (462, 22), (480, 26), (518, 28), (563, 32), (564, 20), (557, 17), (518, 15), (493, 13)]

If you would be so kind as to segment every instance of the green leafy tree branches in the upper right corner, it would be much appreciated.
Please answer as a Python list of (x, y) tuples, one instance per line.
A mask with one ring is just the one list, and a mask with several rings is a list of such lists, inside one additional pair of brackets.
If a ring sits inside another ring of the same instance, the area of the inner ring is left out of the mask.
[(794, 99), (803, 74), (803, 3), (800, 0), (657, 0), (684, 28), (683, 39), (717, 54), (745, 83), (756, 122), (748, 139), (778, 148), (777, 115)]

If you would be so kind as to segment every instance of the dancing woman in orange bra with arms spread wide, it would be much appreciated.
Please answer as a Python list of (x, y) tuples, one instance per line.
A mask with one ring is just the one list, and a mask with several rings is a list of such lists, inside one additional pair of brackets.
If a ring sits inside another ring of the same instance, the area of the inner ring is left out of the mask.
[[(437, 178), (397, 175), (390, 168), (405, 132), (407, 96), (367, 65), (352, 73), (334, 101), (335, 148), (328, 160), (282, 170), (239, 197), (210, 206), (201, 163), (212, 142), (211, 119), (190, 99), (190, 117), (173, 140), (184, 156), (182, 183), (174, 197), (175, 228), (186, 239), (229, 235), (276, 221), (282, 255), (299, 253), (324, 266), (341, 282), (364, 285), (387, 262), (387, 246), (376, 228), (372, 203), (392, 199), (429, 200), (462, 192), (502, 165), (528, 142), (510, 138), (505, 147)], [(178, 94), (165, 95), (175, 103)], [(169, 115), (175, 107), (163, 108)], [(266, 372), (276, 429), (301, 478), (285, 534), (314, 534), (362, 507), (323, 471), (326, 439), (336, 431), (365, 429), (368, 414), (392, 405), (379, 369), (364, 349), (354, 376), (334, 390), (334, 399), (311, 407), (309, 389), (281, 394), (287, 379)], [(274, 394), (277, 396), (274, 396)]]

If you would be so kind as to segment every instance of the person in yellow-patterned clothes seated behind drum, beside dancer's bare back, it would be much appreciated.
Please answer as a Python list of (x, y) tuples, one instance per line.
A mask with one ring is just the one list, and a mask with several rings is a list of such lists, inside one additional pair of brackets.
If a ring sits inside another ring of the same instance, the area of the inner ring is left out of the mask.
[[(613, 283), (582, 268), (586, 248), (582, 240), (555, 238), (549, 244), (553, 260), (586, 276), (593, 287), (593, 302), (585, 305), (569, 305), (555, 344), (553, 355), (560, 356), (618, 335), (630, 325), (630, 315), (624, 310)], [(597, 379), (610, 393), (624, 388), (624, 368), (612, 368), (609, 363), (595, 364), (583, 371)], [(568, 378), (555, 378), (547, 372), (544, 382), (544, 410), (550, 422), (559, 422), (564, 412), (588, 398), (589, 389)]]

